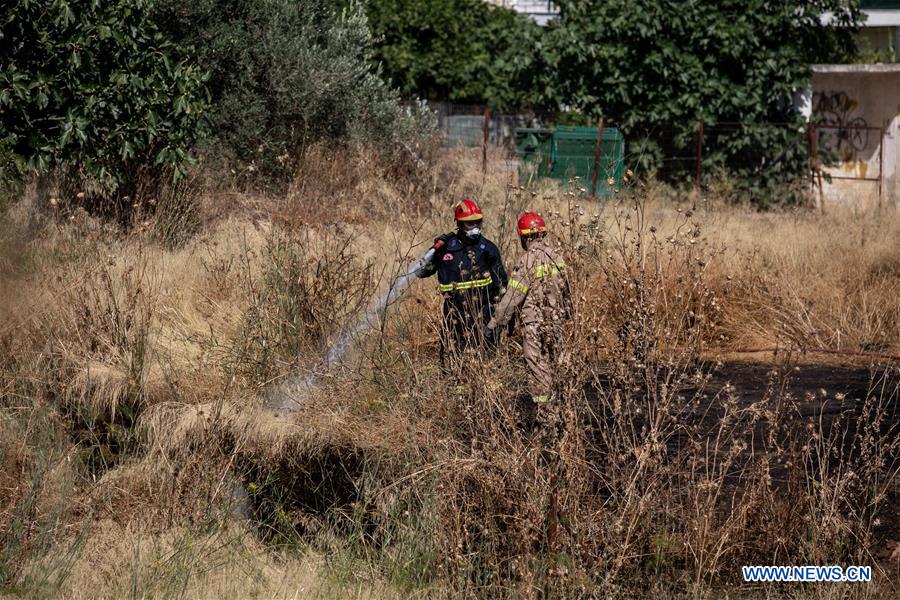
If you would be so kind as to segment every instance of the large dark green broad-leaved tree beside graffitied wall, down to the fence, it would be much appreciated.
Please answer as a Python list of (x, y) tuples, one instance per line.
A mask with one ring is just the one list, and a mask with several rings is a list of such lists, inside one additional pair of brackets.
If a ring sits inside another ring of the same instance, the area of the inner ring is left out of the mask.
[(560, 20), (538, 47), (537, 88), (549, 105), (612, 117), (651, 150), (644, 162), (659, 127), (675, 126), (677, 145), (690, 148), (698, 121), (740, 123), (704, 147), (711, 165), (746, 181), (754, 200), (804, 173), (805, 130), (791, 98), (809, 84), (811, 64), (853, 56), (860, 19), (858, 3), (845, 0), (557, 4)]

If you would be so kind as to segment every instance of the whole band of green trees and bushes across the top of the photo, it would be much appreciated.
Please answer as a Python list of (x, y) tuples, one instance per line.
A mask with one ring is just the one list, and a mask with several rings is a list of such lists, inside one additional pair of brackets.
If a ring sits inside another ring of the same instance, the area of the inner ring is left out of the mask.
[(542, 29), (482, 0), (15, 0), (0, 174), (74, 166), (115, 189), (138, 167), (183, 172), (199, 146), (284, 181), (317, 140), (427, 135), (399, 102), (424, 97), (603, 114), (645, 146), (663, 125), (687, 145), (698, 121), (737, 123), (707, 156), (775, 181), (806, 158), (791, 96), (811, 64), (853, 57), (860, 20), (858, 0), (556, 4)]

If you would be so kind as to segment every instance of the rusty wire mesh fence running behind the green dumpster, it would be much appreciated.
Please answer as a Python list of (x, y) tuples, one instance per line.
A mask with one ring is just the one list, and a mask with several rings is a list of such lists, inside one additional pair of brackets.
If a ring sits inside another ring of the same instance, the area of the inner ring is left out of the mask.
[[(516, 130), (555, 124), (557, 115), (503, 114), (483, 105), (432, 103), (447, 147), (481, 148), (483, 160), (503, 152), (516, 161)], [(878, 184), (881, 194), (883, 128), (754, 122), (681, 122), (620, 125), (605, 118), (625, 138), (625, 166), (644, 176), (702, 189), (723, 176), (748, 181), (791, 180), (821, 190), (822, 181), (858, 180)], [(488, 148), (492, 151), (489, 153)], [(474, 155), (473, 155), (474, 156)], [(484, 165), (487, 168), (487, 165)]]

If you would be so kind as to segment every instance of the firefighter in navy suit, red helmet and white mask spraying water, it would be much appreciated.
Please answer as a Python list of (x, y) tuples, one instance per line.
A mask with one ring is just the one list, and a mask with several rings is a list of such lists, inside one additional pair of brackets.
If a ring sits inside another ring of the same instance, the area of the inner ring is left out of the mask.
[(456, 232), (438, 237), (429, 262), (417, 274), (429, 277), (437, 273), (444, 295), (441, 333), (441, 362), (448, 352), (467, 347), (493, 345), (486, 333), (492, 306), (506, 287), (506, 271), (500, 251), (481, 234), (483, 215), (470, 198), (463, 198), (454, 209)]

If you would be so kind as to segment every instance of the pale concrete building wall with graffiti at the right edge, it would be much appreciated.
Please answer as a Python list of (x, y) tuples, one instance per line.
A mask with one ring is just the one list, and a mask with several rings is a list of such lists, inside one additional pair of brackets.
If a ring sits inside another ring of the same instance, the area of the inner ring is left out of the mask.
[[(900, 64), (813, 65), (824, 199), (855, 206), (900, 201)], [(801, 102), (802, 104), (802, 102)]]

